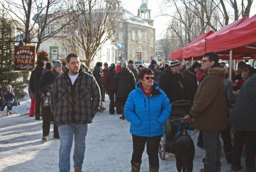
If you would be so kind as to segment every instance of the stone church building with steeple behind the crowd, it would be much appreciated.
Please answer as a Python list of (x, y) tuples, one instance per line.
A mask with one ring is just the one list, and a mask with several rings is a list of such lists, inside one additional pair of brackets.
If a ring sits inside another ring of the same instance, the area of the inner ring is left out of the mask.
[(116, 61), (143, 60), (150, 62), (155, 57), (155, 28), (148, 9), (148, 0), (142, 0), (137, 15), (123, 9), (121, 0), (105, 0), (118, 16), (115, 27), (117, 49)]

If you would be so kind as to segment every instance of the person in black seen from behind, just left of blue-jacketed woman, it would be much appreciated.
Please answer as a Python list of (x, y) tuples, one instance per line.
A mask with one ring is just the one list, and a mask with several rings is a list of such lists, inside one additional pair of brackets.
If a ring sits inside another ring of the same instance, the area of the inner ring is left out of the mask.
[(121, 107), (122, 116), (120, 119), (125, 119), (123, 107), (125, 106), (129, 93), (134, 89), (135, 86), (135, 77), (133, 72), (127, 68), (126, 61), (122, 62), (122, 69), (116, 74), (115, 79), (118, 83), (118, 89), (116, 91), (116, 107)]

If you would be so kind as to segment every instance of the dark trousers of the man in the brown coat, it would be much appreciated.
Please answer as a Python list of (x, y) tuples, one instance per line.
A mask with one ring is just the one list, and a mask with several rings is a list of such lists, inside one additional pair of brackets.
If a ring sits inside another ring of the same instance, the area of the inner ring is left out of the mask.
[(220, 170), (221, 143), (219, 131), (203, 131), (204, 149), (206, 151), (204, 169), (207, 172)]

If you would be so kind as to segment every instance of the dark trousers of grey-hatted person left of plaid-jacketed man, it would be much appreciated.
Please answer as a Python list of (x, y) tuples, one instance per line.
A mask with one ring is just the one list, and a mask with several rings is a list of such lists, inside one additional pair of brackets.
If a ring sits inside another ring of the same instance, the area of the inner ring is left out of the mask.
[[(54, 121), (54, 117), (51, 113), (51, 107), (42, 107), (42, 116), (43, 116), (43, 136), (47, 136), (49, 135), (50, 132), (50, 125), (51, 122)], [(58, 126), (56, 126), (56, 124), (54, 124), (54, 134), (55, 135), (59, 135), (58, 132)]]

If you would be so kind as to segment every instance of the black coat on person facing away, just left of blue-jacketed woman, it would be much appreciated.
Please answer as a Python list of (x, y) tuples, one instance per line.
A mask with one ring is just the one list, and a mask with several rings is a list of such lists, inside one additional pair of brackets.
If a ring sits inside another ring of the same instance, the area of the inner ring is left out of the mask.
[(118, 83), (116, 97), (128, 97), (129, 93), (135, 88), (135, 77), (128, 68), (122, 68), (115, 76)]

